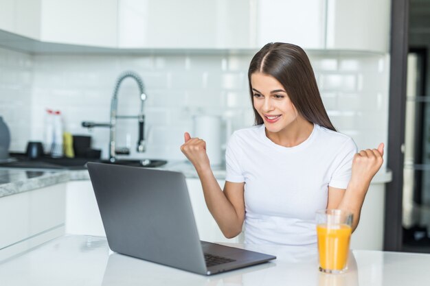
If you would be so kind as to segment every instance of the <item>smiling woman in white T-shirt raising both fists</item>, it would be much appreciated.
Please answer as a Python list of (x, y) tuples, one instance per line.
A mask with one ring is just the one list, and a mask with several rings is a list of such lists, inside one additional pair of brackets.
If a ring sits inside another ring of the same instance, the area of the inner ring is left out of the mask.
[(185, 132), (181, 146), (220, 230), (236, 237), (245, 222), (246, 243), (315, 245), (315, 211), (324, 208), (352, 212), (354, 230), (383, 163), (383, 143), (357, 153), (354, 141), (336, 132), (308, 57), (296, 45), (265, 45), (251, 60), (248, 78), (256, 126), (229, 139), (224, 191), (205, 141)]

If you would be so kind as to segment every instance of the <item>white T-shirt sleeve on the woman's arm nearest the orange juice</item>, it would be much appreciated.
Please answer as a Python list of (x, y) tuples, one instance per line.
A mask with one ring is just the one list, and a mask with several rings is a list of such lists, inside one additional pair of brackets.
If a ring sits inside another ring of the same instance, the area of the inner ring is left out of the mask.
[(348, 139), (343, 147), (340, 148), (334, 162), (337, 167), (328, 183), (330, 187), (339, 189), (346, 189), (348, 187), (351, 179), (352, 159), (354, 159), (354, 155), (357, 152), (357, 145), (355, 145), (352, 139)]

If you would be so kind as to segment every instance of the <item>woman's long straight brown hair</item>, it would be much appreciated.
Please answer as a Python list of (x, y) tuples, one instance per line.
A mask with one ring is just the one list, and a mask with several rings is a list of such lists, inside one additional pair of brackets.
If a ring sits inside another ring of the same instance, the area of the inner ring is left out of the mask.
[[(304, 119), (336, 131), (319, 95), (309, 58), (301, 47), (286, 43), (269, 43), (253, 56), (248, 71), (251, 103), (253, 103), (251, 75), (256, 72), (271, 75), (278, 80)], [(252, 108), (256, 125), (262, 124), (263, 119), (253, 105)]]

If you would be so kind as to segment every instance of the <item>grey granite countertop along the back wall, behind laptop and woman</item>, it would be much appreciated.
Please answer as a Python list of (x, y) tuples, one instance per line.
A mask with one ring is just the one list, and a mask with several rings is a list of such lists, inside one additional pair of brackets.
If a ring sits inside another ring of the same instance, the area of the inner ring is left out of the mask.
[[(157, 169), (180, 171), (186, 178), (199, 178), (197, 172), (188, 161), (171, 161)], [(225, 166), (212, 167), (217, 180), (225, 180)], [(87, 169), (84, 170), (41, 170), (41, 169), (0, 169), (0, 198), (15, 193), (49, 187), (70, 180), (89, 180)], [(372, 180), (373, 184), (390, 182), (392, 171), (380, 170)]]

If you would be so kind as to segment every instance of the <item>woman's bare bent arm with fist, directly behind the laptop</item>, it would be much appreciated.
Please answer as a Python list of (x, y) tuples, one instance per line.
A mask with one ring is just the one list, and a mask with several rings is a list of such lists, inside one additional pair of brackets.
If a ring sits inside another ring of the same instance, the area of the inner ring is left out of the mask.
[(196, 168), (207, 208), (223, 235), (227, 238), (236, 237), (242, 231), (245, 219), (245, 183), (225, 182), (222, 191), (210, 167), (205, 141), (191, 138), (188, 132), (185, 132), (184, 136), (185, 143), (181, 146), (181, 151)]

